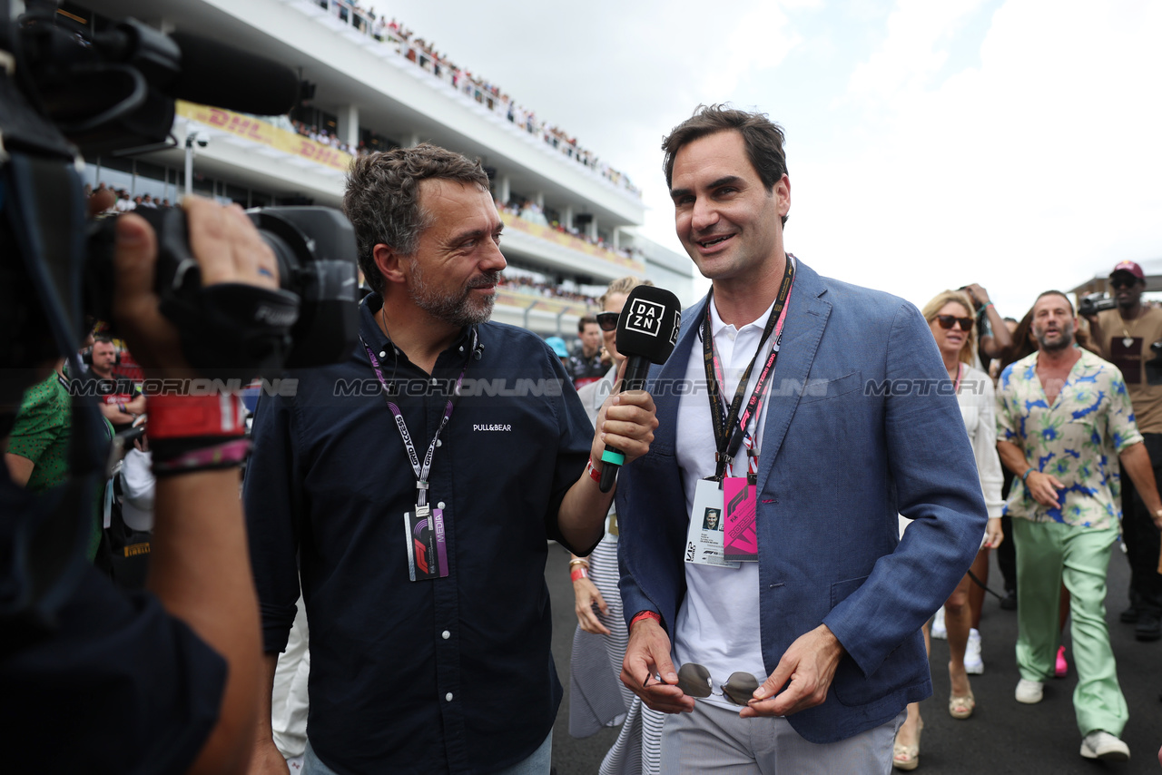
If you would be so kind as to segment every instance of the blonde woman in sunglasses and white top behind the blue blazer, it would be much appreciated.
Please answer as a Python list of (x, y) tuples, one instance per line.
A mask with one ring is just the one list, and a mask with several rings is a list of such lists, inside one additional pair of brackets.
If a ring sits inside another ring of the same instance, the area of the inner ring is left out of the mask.
[[(988, 567), (988, 551), (1000, 545), (1004, 536), (1000, 532), (1000, 460), (997, 458), (996, 409), (992, 380), (984, 372), (974, 368), (973, 353), (976, 351), (976, 330), (973, 316), (973, 302), (959, 290), (945, 290), (924, 306), (924, 318), (932, 329), (937, 349), (944, 359), (948, 379), (956, 393), (956, 402), (964, 419), (968, 438), (973, 444), (976, 468), (981, 478), (981, 491), (988, 508), (989, 522), (985, 529), (981, 552), (973, 562), (973, 568)], [(903, 528), (903, 525), (902, 525)], [(969, 584), (971, 572), (956, 584), (956, 589), (945, 602), (945, 626), (948, 631), (948, 680), (952, 694), (948, 697), (948, 713), (956, 719), (973, 715), (976, 698), (968, 681), (964, 668), (964, 650), (968, 646), (971, 629), (971, 610), (969, 607)], [(980, 573), (977, 573), (980, 577)], [(924, 625), (925, 643), (928, 643), (928, 625)], [(977, 643), (980, 634), (976, 636)], [(931, 647), (930, 647), (931, 652)], [(908, 706), (908, 719), (896, 734), (896, 746), (892, 763), (897, 769), (916, 769), (919, 765), (920, 730), (919, 703)]]

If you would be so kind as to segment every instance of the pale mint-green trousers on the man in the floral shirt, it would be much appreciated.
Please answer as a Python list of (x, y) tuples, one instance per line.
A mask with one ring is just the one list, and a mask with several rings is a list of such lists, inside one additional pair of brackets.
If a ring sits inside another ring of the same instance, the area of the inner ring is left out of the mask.
[(1121, 735), (1129, 711), (1105, 624), (1105, 575), (1117, 528), (1092, 530), (1057, 522), (1013, 519), (1017, 548), (1017, 667), (1023, 679), (1053, 675), (1060, 643), (1061, 583), (1069, 590), (1077, 688), (1074, 710), (1083, 735)]

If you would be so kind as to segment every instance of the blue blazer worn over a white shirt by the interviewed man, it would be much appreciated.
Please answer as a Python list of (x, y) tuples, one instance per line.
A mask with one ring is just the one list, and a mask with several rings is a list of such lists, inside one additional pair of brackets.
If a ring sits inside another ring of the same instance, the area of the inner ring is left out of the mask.
[[(650, 372), (659, 428), (617, 487), (626, 620), (657, 611), (672, 637), (689, 521), (680, 382), (705, 304)], [(798, 261), (770, 389), (756, 490), (762, 656), (769, 675), (803, 633), (834, 632), (847, 653), (826, 701), (788, 717), (804, 739), (833, 742), (932, 694), (920, 625), (963, 577), (987, 512), (952, 382), (909, 302)], [(897, 512), (913, 521), (903, 540)]]

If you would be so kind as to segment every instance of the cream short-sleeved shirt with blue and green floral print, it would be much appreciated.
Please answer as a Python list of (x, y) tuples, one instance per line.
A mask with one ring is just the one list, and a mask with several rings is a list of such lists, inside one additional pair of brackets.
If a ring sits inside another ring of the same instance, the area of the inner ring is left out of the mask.
[(1062, 507), (1047, 508), (1014, 480), (1006, 515), (1084, 528), (1117, 526), (1121, 519), (1118, 455), (1142, 436), (1121, 372), (1088, 350), (1079, 352), (1053, 406), (1037, 375), (1038, 353), (1000, 374), (997, 438), (1019, 446), (1031, 466), (1066, 486)]

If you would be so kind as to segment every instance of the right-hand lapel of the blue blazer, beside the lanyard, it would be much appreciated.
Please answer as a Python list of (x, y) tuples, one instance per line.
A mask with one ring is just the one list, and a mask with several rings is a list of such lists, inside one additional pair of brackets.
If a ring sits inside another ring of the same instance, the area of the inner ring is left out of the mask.
[(795, 287), (788, 301), (787, 321), (783, 323), (779, 360), (775, 363), (767, 397), (767, 424), (762, 433), (762, 446), (759, 449), (759, 491), (762, 491), (779, 455), (787, 428), (803, 395), (808, 374), (811, 373), (823, 331), (827, 326), (831, 303), (822, 299), (826, 290), (822, 278), (799, 260), (795, 272)]

